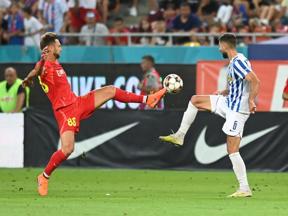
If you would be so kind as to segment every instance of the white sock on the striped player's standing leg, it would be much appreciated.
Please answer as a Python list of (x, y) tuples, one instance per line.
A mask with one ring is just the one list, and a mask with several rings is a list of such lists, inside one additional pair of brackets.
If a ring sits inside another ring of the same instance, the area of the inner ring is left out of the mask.
[(246, 175), (246, 167), (245, 167), (243, 159), (240, 156), (240, 153), (235, 152), (229, 155), (229, 158), (232, 162), (234, 173), (240, 184), (240, 189), (244, 190), (245, 192), (249, 191), (250, 188), (249, 188), (247, 175)]

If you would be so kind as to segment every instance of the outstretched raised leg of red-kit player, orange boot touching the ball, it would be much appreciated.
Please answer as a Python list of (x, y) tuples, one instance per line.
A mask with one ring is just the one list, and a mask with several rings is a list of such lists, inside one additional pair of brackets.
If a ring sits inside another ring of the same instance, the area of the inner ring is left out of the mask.
[(105, 86), (103, 88), (98, 88), (94, 90), (94, 98), (95, 98), (95, 109), (98, 109), (103, 104), (105, 104), (110, 99), (115, 101), (119, 101), (122, 103), (140, 103), (147, 104), (152, 108), (157, 107), (158, 102), (161, 98), (164, 97), (167, 88), (163, 88), (162, 90), (156, 92), (149, 96), (136, 95), (129, 91), (123, 91), (120, 88), (116, 88), (113, 85)]

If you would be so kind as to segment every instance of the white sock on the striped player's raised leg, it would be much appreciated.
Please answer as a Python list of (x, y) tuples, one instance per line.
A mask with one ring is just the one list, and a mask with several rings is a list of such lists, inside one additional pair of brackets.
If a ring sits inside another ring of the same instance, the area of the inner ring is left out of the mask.
[(197, 112), (198, 112), (198, 108), (196, 108), (191, 103), (191, 101), (189, 101), (187, 110), (186, 110), (186, 112), (184, 112), (180, 128), (177, 131), (177, 133), (175, 134), (178, 139), (180, 139), (180, 140), (184, 139), (188, 129), (190, 128), (190, 126), (192, 125), (192, 123), (195, 120)]

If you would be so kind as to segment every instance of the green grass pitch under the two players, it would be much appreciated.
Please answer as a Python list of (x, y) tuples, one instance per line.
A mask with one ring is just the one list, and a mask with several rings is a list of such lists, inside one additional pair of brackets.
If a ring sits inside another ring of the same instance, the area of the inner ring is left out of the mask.
[(233, 172), (58, 168), (40, 196), (41, 172), (0, 169), (1, 216), (288, 215), (287, 173), (247, 173), (253, 197), (229, 198)]

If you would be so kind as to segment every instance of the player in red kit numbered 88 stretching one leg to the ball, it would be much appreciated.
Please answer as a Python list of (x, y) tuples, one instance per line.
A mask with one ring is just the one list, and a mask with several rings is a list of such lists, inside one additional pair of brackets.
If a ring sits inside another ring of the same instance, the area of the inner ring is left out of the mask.
[(22, 87), (25, 88), (28, 85), (33, 87), (32, 79), (38, 76), (44, 92), (52, 103), (59, 125), (61, 149), (52, 155), (44, 173), (37, 178), (39, 194), (47, 195), (48, 180), (51, 173), (74, 151), (74, 134), (79, 131), (80, 120), (90, 116), (110, 99), (122, 103), (145, 103), (155, 108), (167, 88), (149, 96), (142, 96), (110, 85), (77, 97), (71, 91), (66, 73), (57, 61), (62, 51), (58, 35), (53, 32), (46, 32), (41, 36), (40, 46), (42, 49), (41, 60), (23, 80)]

